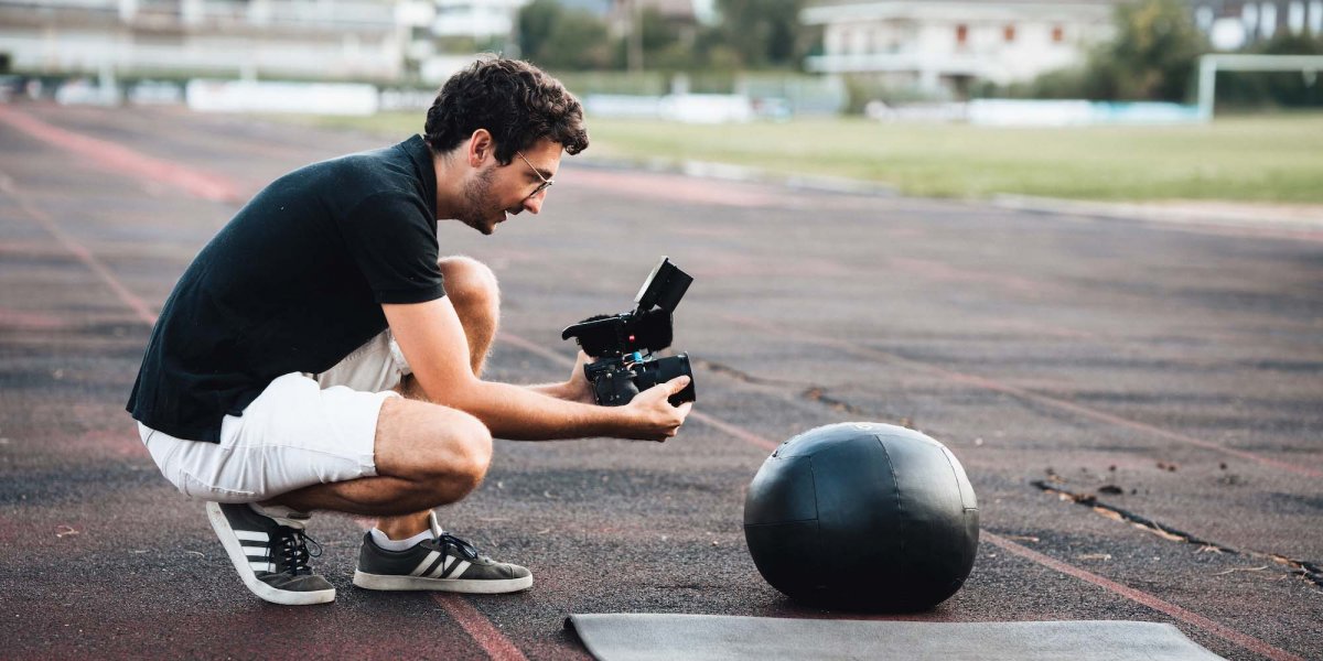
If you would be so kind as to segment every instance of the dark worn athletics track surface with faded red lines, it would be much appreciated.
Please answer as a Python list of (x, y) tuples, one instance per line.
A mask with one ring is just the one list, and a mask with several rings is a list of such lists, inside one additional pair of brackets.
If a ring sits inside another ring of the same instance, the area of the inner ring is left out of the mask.
[(441, 518), (528, 566), (531, 591), (357, 590), (366, 522), (319, 514), (336, 602), (259, 602), (123, 405), (156, 311), (247, 197), (390, 141), (0, 106), (0, 656), (581, 658), (576, 612), (897, 617), (787, 600), (741, 529), (777, 443), (877, 420), (946, 443), (982, 506), (964, 588), (901, 617), (1147, 620), (1228, 658), (1323, 658), (1323, 231), (574, 157), (540, 215), (492, 237), (441, 225), (443, 251), (501, 282), (488, 377), (564, 378), (561, 328), (627, 309), (664, 254), (696, 278), (675, 342), (695, 416), (665, 444), (497, 440), (483, 486)]

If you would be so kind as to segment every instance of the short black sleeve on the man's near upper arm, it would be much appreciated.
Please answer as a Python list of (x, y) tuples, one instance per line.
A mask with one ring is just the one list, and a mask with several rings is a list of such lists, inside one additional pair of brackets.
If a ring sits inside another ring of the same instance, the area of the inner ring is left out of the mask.
[(421, 200), (384, 192), (341, 221), (347, 249), (377, 303), (423, 303), (446, 295), (437, 221)]

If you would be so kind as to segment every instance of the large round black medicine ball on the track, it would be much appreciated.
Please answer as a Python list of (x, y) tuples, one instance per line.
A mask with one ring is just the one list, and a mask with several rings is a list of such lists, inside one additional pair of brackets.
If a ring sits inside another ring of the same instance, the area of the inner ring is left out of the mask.
[(767, 583), (827, 608), (931, 608), (960, 588), (979, 545), (955, 455), (893, 424), (828, 424), (782, 443), (749, 485), (744, 521)]

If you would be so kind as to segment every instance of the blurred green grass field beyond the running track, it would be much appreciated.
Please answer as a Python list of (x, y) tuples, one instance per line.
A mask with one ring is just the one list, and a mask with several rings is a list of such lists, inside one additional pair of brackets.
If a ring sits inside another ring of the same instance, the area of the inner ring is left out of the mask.
[[(422, 112), (316, 122), (401, 135), (421, 128)], [(589, 134), (583, 157), (590, 159), (726, 163), (770, 175), (867, 180), (914, 196), (1323, 204), (1323, 114), (1090, 128), (590, 119)]]

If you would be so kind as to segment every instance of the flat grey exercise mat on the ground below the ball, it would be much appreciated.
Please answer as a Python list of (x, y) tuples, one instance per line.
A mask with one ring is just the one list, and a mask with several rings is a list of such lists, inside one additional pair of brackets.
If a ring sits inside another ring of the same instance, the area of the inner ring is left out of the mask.
[(601, 661), (782, 658), (1209, 661), (1170, 624), (1144, 621), (919, 623), (728, 615), (572, 615)]

